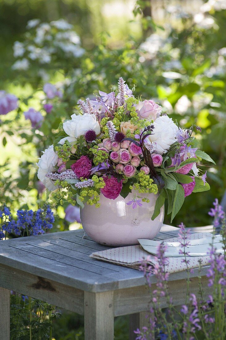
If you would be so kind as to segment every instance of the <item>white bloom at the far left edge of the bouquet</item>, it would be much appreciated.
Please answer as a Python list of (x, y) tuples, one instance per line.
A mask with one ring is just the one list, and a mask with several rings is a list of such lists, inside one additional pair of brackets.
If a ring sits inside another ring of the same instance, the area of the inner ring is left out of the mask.
[(54, 181), (46, 177), (48, 172), (54, 171), (54, 167), (58, 163), (58, 156), (53, 150), (53, 145), (46, 149), (39, 158), (38, 166), (38, 179), (45, 185), (50, 191), (56, 190), (57, 186), (54, 185)]

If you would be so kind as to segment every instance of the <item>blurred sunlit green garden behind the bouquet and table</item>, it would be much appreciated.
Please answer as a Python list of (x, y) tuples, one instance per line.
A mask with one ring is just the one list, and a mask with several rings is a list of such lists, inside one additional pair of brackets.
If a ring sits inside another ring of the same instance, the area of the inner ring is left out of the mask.
[[(0, 91), (18, 98), (18, 109), (0, 115), (1, 204), (16, 214), (48, 201), (35, 165), (41, 151), (79, 98), (110, 92), (121, 76), (181, 127), (201, 127), (196, 138), (216, 162), (211, 189), (187, 197), (173, 224), (212, 223), (209, 208), (226, 189), (226, 0), (0, 0), (0, 32)], [(52, 231), (80, 226), (65, 220), (67, 205), (51, 208)], [(115, 338), (126, 339), (126, 319), (116, 323)], [(84, 338), (74, 314), (54, 329), (56, 340)]]

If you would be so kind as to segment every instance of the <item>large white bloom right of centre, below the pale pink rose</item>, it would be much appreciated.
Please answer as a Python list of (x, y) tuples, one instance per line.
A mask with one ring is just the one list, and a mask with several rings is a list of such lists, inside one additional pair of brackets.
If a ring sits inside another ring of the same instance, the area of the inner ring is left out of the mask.
[(176, 141), (178, 127), (168, 116), (158, 117), (153, 124), (155, 126), (153, 134), (147, 138), (154, 144), (155, 151), (162, 155)]

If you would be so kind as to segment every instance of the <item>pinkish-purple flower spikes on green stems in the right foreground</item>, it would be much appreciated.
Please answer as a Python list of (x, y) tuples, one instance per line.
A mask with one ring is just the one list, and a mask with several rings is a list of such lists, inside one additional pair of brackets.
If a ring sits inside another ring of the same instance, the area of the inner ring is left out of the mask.
[[(209, 213), (214, 217), (214, 226), (222, 224), (222, 248), (226, 249), (226, 225), (225, 213), (222, 207), (216, 200), (214, 209)], [(206, 298), (206, 292), (203, 287), (203, 279), (201, 276), (201, 266), (199, 267), (199, 289), (198, 293), (194, 294), (190, 287), (192, 278), (190, 278), (189, 270), (190, 255), (186, 252), (189, 246), (188, 236), (190, 229), (185, 228), (181, 223), (179, 225), (180, 238), (180, 254), (184, 257), (184, 262), (187, 267), (187, 286), (186, 303), (180, 308), (173, 307), (174, 301), (169, 293), (168, 280), (169, 273), (167, 266), (169, 259), (166, 257), (167, 245), (160, 243), (157, 252), (157, 263), (154, 267), (150, 266), (148, 260), (141, 262), (140, 269), (149, 285), (151, 294), (151, 316), (147, 318), (147, 327), (136, 329), (137, 340), (154, 340), (158, 339), (177, 339), (177, 340), (225, 340), (226, 338), (226, 254), (216, 252), (213, 244), (210, 244), (208, 256), (210, 258), (209, 267), (206, 277), (208, 279), (209, 295)], [(153, 289), (151, 278), (154, 274), (157, 283)], [(161, 309), (161, 300), (164, 299), (167, 303), (167, 309)], [(167, 317), (168, 315), (168, 317)]]

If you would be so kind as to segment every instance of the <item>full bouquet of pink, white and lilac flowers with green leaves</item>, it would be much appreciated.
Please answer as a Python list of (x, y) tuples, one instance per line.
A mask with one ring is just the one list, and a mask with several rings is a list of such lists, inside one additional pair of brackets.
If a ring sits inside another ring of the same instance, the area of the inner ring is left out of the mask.
[(39, 159), (38, 178), (54, 191), (54, 203), (66, 199), (82, 208), (99, 207), (100, 194), (126, 200), (133, 192), (126, 204), (145, 209), (149, 195), (158, 194), (152, 220), (168, 200), (172, 221), (186, 196), (210, 188), (203, 161), (214, 161), (198, 150), (193, 131), (201, 129), (182, 130), (159, 104), (136, 98), (135, 86), (129, 89), (122, 78), (113, 89), (78, 101), (80, 113), (60, 124), (54, 144)]

